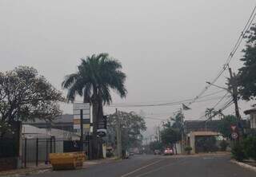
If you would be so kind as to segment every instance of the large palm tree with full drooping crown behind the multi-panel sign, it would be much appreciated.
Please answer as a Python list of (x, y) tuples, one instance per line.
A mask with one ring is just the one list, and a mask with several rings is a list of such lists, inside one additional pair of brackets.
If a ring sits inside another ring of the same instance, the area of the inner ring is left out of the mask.
[(67, 75), (62, 82), (62, 88), (66, 88), (67, 100), (73, 102), (75, 96), (83, 96), (84, 103), (93, 106), (93, 155), (97, 147), (97, 125), (103, 116), (103, 104), (112, 101), (110, 89), (118, 92), (122, 98), (126, 96), (126, 74), (121, 71), (119, 61), (109, 57), (107, 53), (93, 54), (81, 60), (78, 72)]

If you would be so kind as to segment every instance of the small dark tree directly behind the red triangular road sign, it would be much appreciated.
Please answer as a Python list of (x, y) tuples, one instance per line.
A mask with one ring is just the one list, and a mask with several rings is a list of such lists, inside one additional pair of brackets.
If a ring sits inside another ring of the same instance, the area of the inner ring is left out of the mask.
[(238, 124), (238, 118), (233, 115), (224, 116), (224, 118), (218, 124), (218, 132), (222, 133), (226, 138), (230, 138), (231, 125)]

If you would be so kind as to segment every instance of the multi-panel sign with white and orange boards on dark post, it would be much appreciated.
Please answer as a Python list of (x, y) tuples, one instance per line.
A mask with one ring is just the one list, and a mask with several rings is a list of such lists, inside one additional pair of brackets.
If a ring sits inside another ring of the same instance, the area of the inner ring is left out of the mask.
[(81, 129), (81, 110), (82, 110), (82, 127), (83, 132), (90, 132), (90, 103), (73, 104), (73, 124), (74, 129)]

